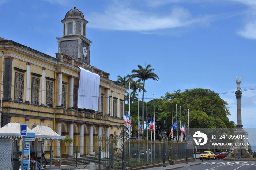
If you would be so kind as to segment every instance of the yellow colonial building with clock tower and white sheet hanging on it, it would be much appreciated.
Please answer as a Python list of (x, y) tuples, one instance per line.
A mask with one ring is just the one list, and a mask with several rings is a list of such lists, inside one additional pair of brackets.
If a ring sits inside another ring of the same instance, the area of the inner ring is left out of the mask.
[[(120, 135), (127, 89), (110, 80), (109, 73), (90, 65), (91, 41), (86, 38), (88, 22), (83, 13), (74, 7), (61, 22), (63, 37), (57, 38), (56, 57), (0, 38), (0, 123), (1, 127), (10, 122), (22, 123), (30, 129), (48, 126), (74, 139), (69, 155), (73, 154), (72, 146), (78, 146), (81, 155), (93, 154), (95, 136)], [(83, 69), (91, 76), (99, 76), (99, 81), (80, 77)], [(44, 151), (49, 146), (46, 141)], [(54, 141), (53, 148), (56, 146), (60, 143)], [(59, 156), (57, 150), (54, 155)], [(61, 151), (64, 153), (65, 148)]]

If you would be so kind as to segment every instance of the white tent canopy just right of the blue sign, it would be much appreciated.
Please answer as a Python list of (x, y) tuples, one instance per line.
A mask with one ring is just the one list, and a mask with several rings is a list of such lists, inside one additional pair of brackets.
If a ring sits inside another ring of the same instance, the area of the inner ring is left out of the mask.
[(35, 133), (36, 139), (56, 139), (56, 140), (63, 140), (66, 137), (60, 136), (56, 132), (54, 132), (51, 128), (48, 126), (36, 126), (33, 128), (32, 133)]

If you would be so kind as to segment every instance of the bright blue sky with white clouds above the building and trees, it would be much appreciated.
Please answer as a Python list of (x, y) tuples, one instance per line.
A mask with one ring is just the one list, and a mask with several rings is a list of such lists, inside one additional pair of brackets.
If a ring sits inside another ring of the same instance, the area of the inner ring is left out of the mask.
[[(90, 63), (110, 79), (151, 64), (160, 78), (146, 81), (151, 100), (178, 89), (234, 92), (236, 76), (242, 77), (242, 124), (255, 128), (256, 90), (245, 90), (256, 89), (255, 0), (76, 0), (75, 5), (89, 21)], [(73, 7), (74, 0), (0, 0), (0, 37), (55, 57), (61, 20)], [(235, 94), (220, 97), (237, 122)]]

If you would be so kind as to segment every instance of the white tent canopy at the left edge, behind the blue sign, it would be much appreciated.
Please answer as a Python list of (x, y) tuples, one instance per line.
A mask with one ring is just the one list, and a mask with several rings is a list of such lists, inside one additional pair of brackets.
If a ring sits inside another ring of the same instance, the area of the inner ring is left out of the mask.
[[(27, 127), (27, 133), (34, 133)], [(0, 128), (0, 137), (21, 138), (20, 136), (20, 123), (8, 123)]]

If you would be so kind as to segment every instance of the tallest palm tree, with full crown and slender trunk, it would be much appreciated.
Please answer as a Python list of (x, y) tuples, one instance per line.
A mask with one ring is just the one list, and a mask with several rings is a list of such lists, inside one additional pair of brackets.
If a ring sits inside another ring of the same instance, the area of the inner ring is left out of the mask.
[[(144, 122), (144, 92), (145, 92), (145, 80), (147, 79), (153, 79), (153, 80), (157, 80), (157, 78), (159, 79), (159, 77), (157, 76), (157, 74), (155, 74), (153, 71), (155, 69), (150, 68), (151, 64), (145, 66), (145, 68), (143, 68), (141, 65), (138, 65), (138, 70), (133, 69), (132, 70), (132, 78), (140, 78), (143, 81), (143, 92), (142, 92), (142, 123)], [(144, 124), (143, 124), (144, 125)], [(142, 139), (144, 139), (144, 130), (143, 130), (143, 125), (142, 125)]]

